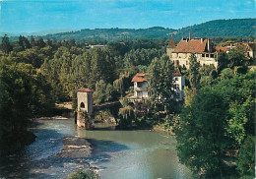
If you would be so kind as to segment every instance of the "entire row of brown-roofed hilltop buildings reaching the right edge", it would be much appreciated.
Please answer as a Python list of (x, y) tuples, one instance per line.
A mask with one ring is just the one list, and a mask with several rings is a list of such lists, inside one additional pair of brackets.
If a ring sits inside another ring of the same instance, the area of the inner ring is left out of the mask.
[[(189, 34), (190, 36), (190, 34)], [(201, 66), (213, 64), (218, 67), (216, 57), (219, 52), (228, 53), (230, 49), (237, 46), (243, 46), (245, 56), (248, 59), (256, 58), (256, 43), (255, 42), (239, 42), (230, 44), (229, 46), (216, 46), (210, 38), (182, 38), (177, 46), (175, 46), (173, 37), (170, 38), (166, 48), (166, 53), (169, 59), (174, 63), (175, 67), (181, 66), (189, 68), (189, 57), (195, 54), (197, 61)]]

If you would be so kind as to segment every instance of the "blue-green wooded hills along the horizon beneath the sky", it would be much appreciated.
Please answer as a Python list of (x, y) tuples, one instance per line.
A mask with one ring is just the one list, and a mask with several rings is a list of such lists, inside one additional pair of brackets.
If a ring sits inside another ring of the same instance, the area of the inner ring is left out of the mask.
[[(166, 26), (168, 26), (166, 24)], [(75, 39), (105, 39), (116, 40), (123, 38), (159, 38), (166, 37), (172, 33), (174, 38), (187, 37), (188, 31), (191, 31), (192, 37), (236, 37), (236, 36), (254, 36), (256, 30), (256, 19), (232, 19), (215, 20), (207, 23), (194, 25), (179, 30), (154, 27), (149, 29), (85, 29), (70, 32), (60, 32), (41, 36), (42, 38), (55, 38), (56, 40)], [(11, 40), (17, 40), (18, 37), (10, 37)]]

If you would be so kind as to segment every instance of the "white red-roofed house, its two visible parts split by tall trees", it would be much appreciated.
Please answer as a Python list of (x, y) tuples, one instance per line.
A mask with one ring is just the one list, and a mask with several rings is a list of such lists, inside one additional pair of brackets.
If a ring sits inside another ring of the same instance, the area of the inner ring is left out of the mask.
[[(148, 82), (146, 79), (146, 74), (138, 73), (136, 74), (132, 82), (134, 83), (134, 95), (133, 99), (141, 100), (143, 98), (149, 97), (148, 92)], [(175, 95), (173, 96), (176, 101), (181, 101), (184, 99), (184, 87), (185, 87), (185, 77), (180, 73), (179, 69), (176, 68), (173, 73), (173, 90)]]

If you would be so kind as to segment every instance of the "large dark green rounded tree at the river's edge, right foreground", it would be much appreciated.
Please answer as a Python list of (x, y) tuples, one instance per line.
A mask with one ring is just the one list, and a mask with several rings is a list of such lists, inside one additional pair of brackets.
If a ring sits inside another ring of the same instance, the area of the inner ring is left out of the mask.
[(195, 175), (222, 176), (225, 137), (225, 113), (228, 104), (222, 93), (201, 89), (191, 105), (186, 106), (175, 126), (178, 156)]

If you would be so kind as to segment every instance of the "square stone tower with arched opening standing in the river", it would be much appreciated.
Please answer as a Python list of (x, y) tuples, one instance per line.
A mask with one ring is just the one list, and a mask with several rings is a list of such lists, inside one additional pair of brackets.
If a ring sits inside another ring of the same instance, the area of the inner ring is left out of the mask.
[(91, 89), (78, 89), (78, 115), (77, 126), (86, 129), (94, 129), (93, 91)]

